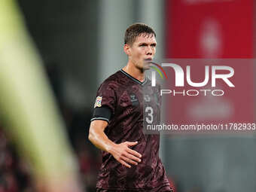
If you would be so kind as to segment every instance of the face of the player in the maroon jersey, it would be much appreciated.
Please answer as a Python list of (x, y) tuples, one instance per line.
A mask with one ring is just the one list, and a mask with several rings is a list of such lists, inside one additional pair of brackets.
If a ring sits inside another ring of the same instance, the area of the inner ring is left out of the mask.
[(157, 41), (154, 34), (142, 34), (136, 38), (132, 45), (126, 45), (129, 61), (138, 69), (150, 69), (148, 61), (154, 58), (156, 53)]

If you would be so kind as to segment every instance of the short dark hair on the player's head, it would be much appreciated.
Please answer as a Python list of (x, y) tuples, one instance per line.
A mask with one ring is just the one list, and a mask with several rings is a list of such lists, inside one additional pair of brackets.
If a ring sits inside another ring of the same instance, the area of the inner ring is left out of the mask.
[(156, 33), (150, 26), (147, 26), (145, 23), (134, 23), (126, 29), (124, 44), (133, 44), (136, 38), (142, 34), (154, 35), (155, 38), (157, 37)]

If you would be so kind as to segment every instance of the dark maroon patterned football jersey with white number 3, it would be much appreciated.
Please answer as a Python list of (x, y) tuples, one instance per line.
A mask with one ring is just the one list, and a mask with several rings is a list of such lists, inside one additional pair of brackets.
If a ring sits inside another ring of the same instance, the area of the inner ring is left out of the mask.
[(168, 187), (169, 181), (159, 157), (160, 135), (143, 133), (144, 113), (148, 123), (160, 121), (159, 87), (151, 87), (148, 78), (141, 82), (120, 70), (99, 87), (95, 103), (97, 108), (108, 109), (111, 115), (104, 110), (94, 112), (92, 120), (108, 121), (105, 134), (114, 143), (138, 141), (130, 148), (142, 154), (142, 162), (128, 168), (102, 151), (102, 166), (96, 187), (146, 191)]

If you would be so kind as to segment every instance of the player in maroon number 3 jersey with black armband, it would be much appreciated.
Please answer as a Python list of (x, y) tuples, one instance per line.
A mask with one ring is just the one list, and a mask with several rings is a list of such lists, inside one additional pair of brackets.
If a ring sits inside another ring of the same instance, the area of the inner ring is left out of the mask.
[(127, 65), (99, 87), (89, 133), (102, 150), (97, 191), (172, 191), (159, 158), (160, 136), (143, 133), (145, 121), (160, 121), (160, 87), (145, 77), (156, 45), (151, 27), (130, 26), (123, 46)]

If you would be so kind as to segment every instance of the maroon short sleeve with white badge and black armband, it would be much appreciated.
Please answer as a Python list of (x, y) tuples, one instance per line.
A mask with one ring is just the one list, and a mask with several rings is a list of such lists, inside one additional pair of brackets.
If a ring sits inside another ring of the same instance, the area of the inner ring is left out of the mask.
[(93, 120), (111, 120), (114, 115), (114, 108), (116, 104), (116, 96), (111, 84), (103, 83), (96, 94), (96, 101), (93, 109)]

